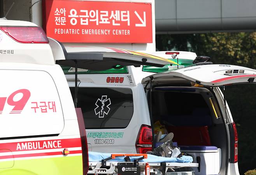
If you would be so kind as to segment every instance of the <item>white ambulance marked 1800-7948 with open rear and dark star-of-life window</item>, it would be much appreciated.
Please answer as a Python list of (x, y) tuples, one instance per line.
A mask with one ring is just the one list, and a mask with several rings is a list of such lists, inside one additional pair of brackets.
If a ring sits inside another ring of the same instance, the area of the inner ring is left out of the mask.
[[(66, 48), (68, 52), (89, 51), (88, 47)], [(108, 49), (97, 47), (95, 53), (111, 52)], [(154, 123), (159, 122), (174, 133), (173, 141), (181, 151), (199, 164), (193, 168), (196, 175), (239, 175), (237, 130), (221, 89), (255, 82), (256, 70), (214, 65), (195, 53), (152, 54), (166, 54), (181, 69), (173, 63), (163, 68), (149, 65), (100, 71), (96, 66), (79, 70), (77, 106), (86, 120), (89, 150), (146, 153), (159, 145), (153, 141)], [(63, 70), (74, 94), (74, 69)]]

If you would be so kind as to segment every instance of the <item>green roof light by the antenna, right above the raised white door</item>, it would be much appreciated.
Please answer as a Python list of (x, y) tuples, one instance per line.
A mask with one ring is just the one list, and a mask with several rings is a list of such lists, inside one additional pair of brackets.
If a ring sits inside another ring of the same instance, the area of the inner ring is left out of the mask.
[[(170, 60), (177, 63), (177, 59), (170, 59)], [(179, 69), (187, 67), (192, 64), (193, 64), (193, 60), (179, 59)], [(177, 69), (177, 65), (165, 65), (164, 67), (153, 67), (153, 66), (144, 65), (142, 68), (142, 71), (159, 73), (159, 72), (165, 72), (167, 70), (175, 70), (175, 69)]]

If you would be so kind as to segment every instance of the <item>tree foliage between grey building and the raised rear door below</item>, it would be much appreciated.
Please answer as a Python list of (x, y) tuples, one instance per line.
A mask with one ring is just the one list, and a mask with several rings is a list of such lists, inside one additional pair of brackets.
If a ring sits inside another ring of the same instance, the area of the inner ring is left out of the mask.
[(194, 51), (214, 63), (256, 68), (256, 32), (156, 35), (158, 50)]

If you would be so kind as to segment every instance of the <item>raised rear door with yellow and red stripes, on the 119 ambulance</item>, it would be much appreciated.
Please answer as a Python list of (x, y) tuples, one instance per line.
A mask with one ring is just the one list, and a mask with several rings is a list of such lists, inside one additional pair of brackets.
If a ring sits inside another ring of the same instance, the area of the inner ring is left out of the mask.
[[(140, 65), (163, 67), (164, 65), (177, 64), (166, 58), (131, 50), (93, 46), (64, 47), (61, 43), (50, 43), (52, 48), (53, 45), (54, 48), (61, 47), (64, 53), (63, 56), (63, 54), (57, 54), (57, 51), (53, 50), (56, 63), (63, 66), (75, 67), (75, 62), (77, 62), (77, 67), (81, 69), (107, 70), (112, 68), (120, 69), (129, 65), (134, 65), (135, 67), (139, 67)], [(56, 52), (56, 54), (54, 52)]]

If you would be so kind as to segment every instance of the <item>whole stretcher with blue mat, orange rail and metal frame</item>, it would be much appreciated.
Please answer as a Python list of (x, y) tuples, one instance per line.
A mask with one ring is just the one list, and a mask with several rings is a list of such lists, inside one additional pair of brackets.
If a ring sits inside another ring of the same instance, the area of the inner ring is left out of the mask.
[[(166, 158), (151, 154), (108, 154), (89, 152), (88, 174), (172, 175), (175, 168), (198, 167), (191, 156)], [(194, 175), (193, 172), (179, 172)]]

